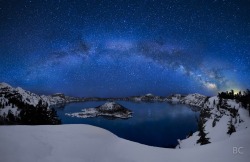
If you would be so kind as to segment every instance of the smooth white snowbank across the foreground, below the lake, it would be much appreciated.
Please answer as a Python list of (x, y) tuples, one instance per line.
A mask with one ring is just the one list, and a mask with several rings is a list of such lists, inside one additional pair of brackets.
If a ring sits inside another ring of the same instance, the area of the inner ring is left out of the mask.
[[(121, 139), (89, 125), (1, 126), (1, 162), (247, 162), (250, 129), (209, 145), (166, 149)], [(234, 154), (234, 147), (244, 147)]]

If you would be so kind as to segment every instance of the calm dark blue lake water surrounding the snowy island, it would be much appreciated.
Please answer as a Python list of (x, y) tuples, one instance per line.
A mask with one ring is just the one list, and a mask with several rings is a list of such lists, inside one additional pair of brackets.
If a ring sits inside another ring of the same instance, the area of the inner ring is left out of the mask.
[(150, 146), (173, 147), (178, 144), (177, 139), (184, 139), (190, 131), (197, 130), (198, 112), (192, 111), (186, 105), (173, 105), (165, 102), (117, 101), (133, 111), (133, 117), (129, 119), (104, 117), (83, 119), (65, 115), (65, 113), (80, 112), (83, 108), (96, 107), (104, 103), (105, 101), (71, 103), (56, 110), (63, 124), (98, 126), (121, 138)]

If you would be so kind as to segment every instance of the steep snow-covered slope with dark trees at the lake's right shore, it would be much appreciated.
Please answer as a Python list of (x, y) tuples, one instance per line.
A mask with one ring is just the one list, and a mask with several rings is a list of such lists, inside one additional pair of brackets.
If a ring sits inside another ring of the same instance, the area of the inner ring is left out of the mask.
[[(209, 138), (211, 143), (217, 143), (225, 139), (231, 140), (235, 134), (250, 129), (250, 117), (248, 111), (241, 107), (241, 104), (237, 103), (235, 100), (224, 99), (222, 101), (223, 104), (218, 106), (218, 97), (210, 97), (202, 108), (210, 113), (210, 116), (205, 118), (206, 122), (204, 126), (205, 133), (207, 133), (206, 137)], [(236, 130), (232, 135), (227, 133), (230, 121), (232, 121)], [(195, 132), (191, 137), (180, 141), (177, 148), (200, 146), (200, 144), (197, 144), (198, 139), (198, 132)]]

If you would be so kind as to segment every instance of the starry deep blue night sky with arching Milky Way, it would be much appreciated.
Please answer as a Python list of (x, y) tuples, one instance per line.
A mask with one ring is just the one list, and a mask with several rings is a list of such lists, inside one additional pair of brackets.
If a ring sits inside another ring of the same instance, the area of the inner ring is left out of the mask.
[(0, 82), (121, 97), (250, 88), (249, 0), (0, 0)]

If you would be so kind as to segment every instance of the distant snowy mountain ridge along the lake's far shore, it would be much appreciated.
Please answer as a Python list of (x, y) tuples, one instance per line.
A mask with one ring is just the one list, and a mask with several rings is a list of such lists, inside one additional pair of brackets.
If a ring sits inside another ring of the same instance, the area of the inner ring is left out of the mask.
[[(47, 103), (48, 106), (63, 105), (70, 102), (84, 102), (84, 101), (112, 101), (112, 100), (125, 100), (125, 101), (135, 101), (135, 102), (172, 102), (172, 103), (182, 103), (191, 106), (201, 107), (202, 103), (205, 101), (205, 96), (195, 93), (189, 95), (180, 95), (174, 94), (171, 96), (155, 96), (151, 93), (142, 96), (130, 96), (122, 98), (99, 98), (99, 97), (71, 97), (66, 96), (63, 93), (55, 93), (52, 95), (38, 95), (30, 91), (24, 90), (21, 87), (13, 88), (7, 83), (0, 83), (0, 94), (7, 94), (5, 96), (10, 97), (11, 95), (21, 95), (22, 101), (31, 104), (37, 105), (39, 100), (42, 100), (44, 103)], [(179, 97), (177, 97), (179, 96)], [(183, 97), (184, 96), (184, 97)], [(190, 97), (192, 96), (192, 97)], [(197, 100), (200, 100), (199, 102)]]

